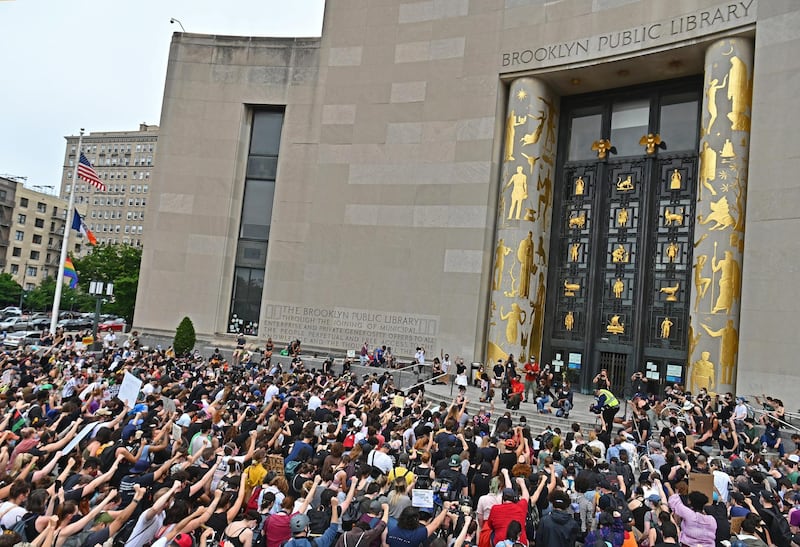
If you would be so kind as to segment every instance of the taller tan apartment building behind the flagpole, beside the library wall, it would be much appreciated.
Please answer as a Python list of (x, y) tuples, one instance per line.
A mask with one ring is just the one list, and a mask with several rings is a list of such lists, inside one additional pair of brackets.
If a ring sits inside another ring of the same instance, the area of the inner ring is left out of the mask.
[[(78, 136), (65, 138), (61, 197), (69, 199), (72, 173), (78, 161)], [(142, 245), (157, 141), (158, 126), (145, 123), (139, 125), (138, 131), (106, 131), (83, 136), (82, 151), (107, 190), (101, 192), (78, 180), (75, 206), (99, 244)]]

